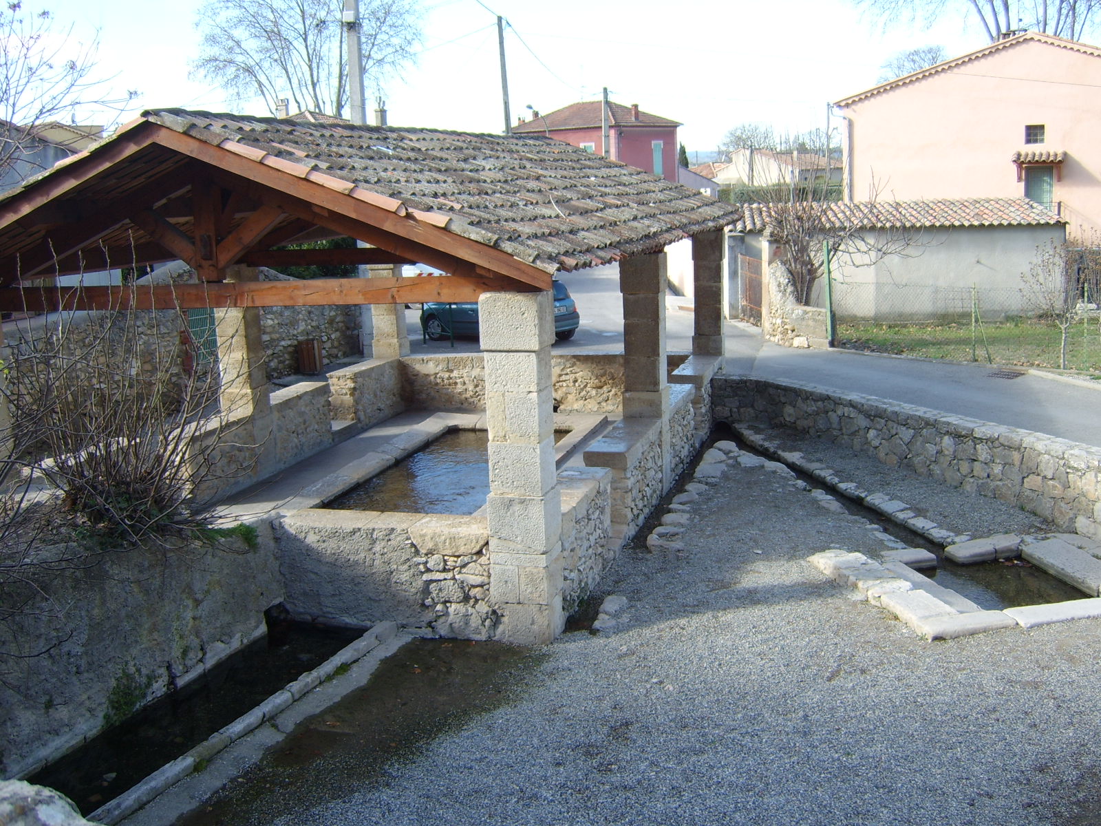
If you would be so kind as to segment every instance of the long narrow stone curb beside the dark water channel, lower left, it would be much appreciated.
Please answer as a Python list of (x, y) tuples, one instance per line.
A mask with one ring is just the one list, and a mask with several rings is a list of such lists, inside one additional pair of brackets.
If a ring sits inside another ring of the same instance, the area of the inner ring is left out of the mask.
[(262, 722), (274, 718), (308, 691), (316, 688), (331, 677), (337, 669), (360, 660), (382, 643), (391, 640), (396, 633), (397, 624), (392, 621), (375, 623), (362, 637), (345, 645), (317, 669), (306, 672), (293, 683), (280, 688), (252, 710), (224, 726), (171, 763), (161, 767), (110, 803), (100, 806), (88, 815), (88, 819), (92, 823), (112, 826), (123, 817), (133, 814), (195, 771), (196, 767), (206, 765), (206, 762), (222, 749), (240, 740)]

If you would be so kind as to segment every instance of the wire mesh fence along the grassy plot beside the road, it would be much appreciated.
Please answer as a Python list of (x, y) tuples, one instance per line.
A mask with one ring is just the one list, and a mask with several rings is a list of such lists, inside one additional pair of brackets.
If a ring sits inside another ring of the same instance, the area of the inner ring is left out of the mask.
[[(835, 283), (838, 346), (955, 361), (1101, 370), (1101, 312), (1040, 313), (1026, 290)], [(1064, 329), (1065, 328), (1065, 329)]]

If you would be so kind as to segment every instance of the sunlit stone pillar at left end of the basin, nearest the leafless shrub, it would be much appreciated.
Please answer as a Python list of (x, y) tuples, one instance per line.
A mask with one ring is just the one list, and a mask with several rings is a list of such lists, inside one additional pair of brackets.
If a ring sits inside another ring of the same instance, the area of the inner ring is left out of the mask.
[[(251, 267), (230, 267), (226, 270), (226, 281), (257, 280), (259, 273)], [(215, 318), (221, 373), (221, 412), (233, 419), (248, 417), (266, 425), (271, 421), (271, 404), (260, 333), (260, 308), (218, 309)]]

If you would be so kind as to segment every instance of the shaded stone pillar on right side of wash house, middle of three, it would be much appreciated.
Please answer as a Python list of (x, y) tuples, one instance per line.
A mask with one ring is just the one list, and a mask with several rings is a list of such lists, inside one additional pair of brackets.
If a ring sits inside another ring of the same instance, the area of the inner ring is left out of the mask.
[[(623, 294), (623, 417), (662, 422), (662, 480), (669, 468), (669, 384), (665, 358), (665, 253), (620, 261)], [(697, 296), (696, 301), (699, 301)]]

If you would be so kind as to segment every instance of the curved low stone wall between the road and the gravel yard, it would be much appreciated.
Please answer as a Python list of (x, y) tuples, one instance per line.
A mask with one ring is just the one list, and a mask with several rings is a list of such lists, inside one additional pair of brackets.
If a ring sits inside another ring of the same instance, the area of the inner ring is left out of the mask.
[(807, 384), (717, 378), (715, 417), (792, 427), (1101, 539), (1101, 449)]

